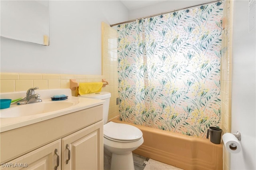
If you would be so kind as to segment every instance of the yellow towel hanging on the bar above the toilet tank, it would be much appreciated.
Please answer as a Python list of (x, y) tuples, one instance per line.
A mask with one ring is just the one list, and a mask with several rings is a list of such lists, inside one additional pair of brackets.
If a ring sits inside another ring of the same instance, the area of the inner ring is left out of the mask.
[(79, 83), (78, 93), (80, 95), (88, 93), (97, 93), (102, 89), (102, 82), (93, 82), (93, 83)]

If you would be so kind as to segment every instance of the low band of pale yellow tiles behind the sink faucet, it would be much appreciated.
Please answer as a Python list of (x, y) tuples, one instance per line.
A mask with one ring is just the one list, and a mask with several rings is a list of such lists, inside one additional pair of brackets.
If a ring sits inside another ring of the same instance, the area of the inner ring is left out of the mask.
[(40, 73), (0, 73), (0, 93), (39, 89), (70, 88), (70, 79), (79, 82), (101, 82), (102, 75), (66, 75)]

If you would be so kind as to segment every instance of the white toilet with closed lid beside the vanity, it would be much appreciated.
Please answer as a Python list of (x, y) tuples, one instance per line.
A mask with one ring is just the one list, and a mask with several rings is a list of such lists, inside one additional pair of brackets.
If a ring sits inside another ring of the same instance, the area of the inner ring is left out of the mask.
[[(132, 151), (144, 142), (142, 131), (132, 125), (108, 122), (108, 108), (111, 93), (98, 92), (78, 95), (90, 99), (104, 100), (104, 170), (134, 170)], [(107, 166), (106, 162), (110, 162)]]

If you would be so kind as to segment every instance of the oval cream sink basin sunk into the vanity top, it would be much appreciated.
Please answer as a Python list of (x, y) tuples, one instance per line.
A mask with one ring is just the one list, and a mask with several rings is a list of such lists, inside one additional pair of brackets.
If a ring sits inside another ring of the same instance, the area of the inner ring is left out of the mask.
[(10, 117), (24, 117), (31, 115), (38, 115), (42, 113), (49, 113), (54, 111), (61, 111), (67, 109), (78, 102), (75, 101), (42, 101), (39, 103), (29, 103), (26, 105), (11, 105), (8, 109), (1, 109), (0, 118)]

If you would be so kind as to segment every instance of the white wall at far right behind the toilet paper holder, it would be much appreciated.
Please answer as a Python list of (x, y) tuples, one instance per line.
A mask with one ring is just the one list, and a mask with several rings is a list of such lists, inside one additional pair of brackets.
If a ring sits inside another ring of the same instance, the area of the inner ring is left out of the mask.
[(234, 1), (231, 130), (241, 132), (242, 151), (231, 154), (232, 170), (256, 169), (256, 30), (248, 33), (248, 1)]

